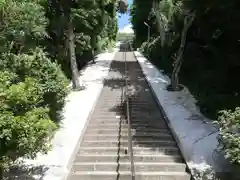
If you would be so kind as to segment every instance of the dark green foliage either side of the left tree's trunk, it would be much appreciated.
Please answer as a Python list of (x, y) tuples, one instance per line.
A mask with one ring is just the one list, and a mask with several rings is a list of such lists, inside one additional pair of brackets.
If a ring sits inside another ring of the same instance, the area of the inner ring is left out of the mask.
[[(71, 77), (67, 54), (67, 26), (61, 7), (55, 0), (50, 0), (50, 6), (47, 6), (47, 17), (50, 21), (48, 29), (51, 36), (49, 49), (50, 54), (57, 57), (62, 64), (67, 76)], [(79, 68), (114, 43), (117, 34), (116, 10), (116, 0), (84, 0), (72, 4), (70, 15), (74, 26)], [(106, 38), (107, 42), (103, 43)], [(104, 44), (107, 46), (103, 46)]]

